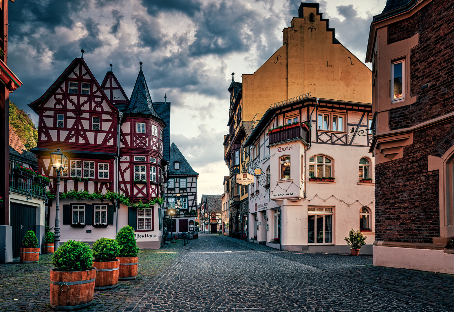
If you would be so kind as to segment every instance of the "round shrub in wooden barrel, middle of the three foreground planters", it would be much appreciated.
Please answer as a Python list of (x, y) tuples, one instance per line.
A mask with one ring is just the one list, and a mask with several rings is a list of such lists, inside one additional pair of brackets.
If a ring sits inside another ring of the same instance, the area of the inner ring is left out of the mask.
[(93, 266), (96, 268), (94, 289), (111, 289), (118, 286), (120, 246), (111, 238), (100, 238), (93, 244)]

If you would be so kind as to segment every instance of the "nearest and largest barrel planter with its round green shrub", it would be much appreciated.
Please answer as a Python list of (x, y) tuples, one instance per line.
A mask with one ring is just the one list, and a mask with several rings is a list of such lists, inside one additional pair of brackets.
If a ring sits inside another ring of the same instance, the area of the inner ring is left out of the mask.
[(80, 309), (93, 303), (96, 268), (92, 267), (90, 247), (68, 240), (52, 256), (50, 270), (50, 307)]

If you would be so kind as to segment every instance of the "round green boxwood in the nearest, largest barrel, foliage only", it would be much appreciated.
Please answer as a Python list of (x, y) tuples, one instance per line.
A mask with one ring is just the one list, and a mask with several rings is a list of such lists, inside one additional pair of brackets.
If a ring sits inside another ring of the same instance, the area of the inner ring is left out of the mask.
[(91, 268), (93, 255), (87, 244), (68, 240), (55, 250), (52, 264), (57, 271), (84, 271)]

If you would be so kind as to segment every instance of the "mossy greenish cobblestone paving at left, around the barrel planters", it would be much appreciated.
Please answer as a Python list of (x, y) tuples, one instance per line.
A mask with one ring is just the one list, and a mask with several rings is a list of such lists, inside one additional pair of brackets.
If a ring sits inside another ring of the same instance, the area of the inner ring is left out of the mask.
[[(109, 291), (95, 290), (95, 303), (79, 311), (124, 311), (154, 277), (188, 251), (187, 246), (178, 240), (158, 250), (141, 250), (138, 278), (120, 281)], [(42, 254), (38, 263), (0, 264), (0, 312), (53, 311), (49, 306), (49, 271), (54, 267), (51, 258), (51, 254)]]

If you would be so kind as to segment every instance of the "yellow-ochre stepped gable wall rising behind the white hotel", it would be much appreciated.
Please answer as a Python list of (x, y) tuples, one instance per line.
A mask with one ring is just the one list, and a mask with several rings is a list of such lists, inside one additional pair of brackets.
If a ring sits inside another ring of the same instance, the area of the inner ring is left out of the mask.
[[(256, 72), (242, 75), (242, 120), (308, 92), (312, 97), (372, 102), (370, 69), (342, 44), (333, 43), (332, 31), (326, 30), (327, 21), (316, 8), (304, 7), (303, 12), (304, 18), (293, 18), (291, 27), (283, 30), (281, 48)], [(311, 13), (314, 22), (309, 21)]]

